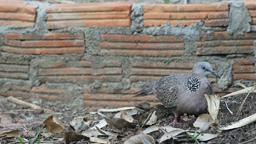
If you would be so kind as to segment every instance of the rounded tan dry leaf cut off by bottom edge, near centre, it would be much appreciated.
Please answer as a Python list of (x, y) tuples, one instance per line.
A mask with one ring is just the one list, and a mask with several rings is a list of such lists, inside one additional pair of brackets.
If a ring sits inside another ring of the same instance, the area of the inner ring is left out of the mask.
[(142, 144), (142, 141), (144, 142), (150, 142), (151, 144), (155, 143), (155, 140), (152, 136), (148, 134), (138, 134), (136, 136), (132, 136), (128, 140), (124, 142), (124, 144)]

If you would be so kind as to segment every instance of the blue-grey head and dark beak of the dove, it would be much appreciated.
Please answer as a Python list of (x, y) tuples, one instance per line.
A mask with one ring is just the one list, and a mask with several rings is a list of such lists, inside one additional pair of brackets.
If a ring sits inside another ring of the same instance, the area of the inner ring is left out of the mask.
[(214, 75), (220, 77), (216, 72), (212, 70), (212, 65), (208, 62), (198, 62), (194, 65), (192, 70), (192, 76), (209, 76)]

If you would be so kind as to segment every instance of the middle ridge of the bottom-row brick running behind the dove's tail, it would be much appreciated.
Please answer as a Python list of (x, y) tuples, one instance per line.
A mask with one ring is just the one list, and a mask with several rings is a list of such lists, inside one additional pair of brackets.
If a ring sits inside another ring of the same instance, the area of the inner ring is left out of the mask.
[(158, 99), (155, 96), (148, 96), (145, 97), (132, 97), (131, 94), (84, 94), (84, 100), (120, 100), (120, 101), (126, 101), (126, 100), (147, 100), (150, 102), (157, 101)]

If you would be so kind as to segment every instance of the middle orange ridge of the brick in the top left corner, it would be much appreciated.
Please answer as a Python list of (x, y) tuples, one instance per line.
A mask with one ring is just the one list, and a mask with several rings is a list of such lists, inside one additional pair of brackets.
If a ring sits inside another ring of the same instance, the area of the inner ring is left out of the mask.
[(24, 20), (35, 22), (35, 14), (26, 14), (26, 13), (13, 13), (13, 12), (0, 12), (0, 19), (4, 20)]

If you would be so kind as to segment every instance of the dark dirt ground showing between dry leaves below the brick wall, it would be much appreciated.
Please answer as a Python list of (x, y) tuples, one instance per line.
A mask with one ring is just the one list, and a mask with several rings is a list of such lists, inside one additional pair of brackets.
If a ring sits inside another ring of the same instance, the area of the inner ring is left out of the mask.
[[(218, 120), (221, 125), (230, 124), (232, 122), (236, 122), (238, 120), (241, 120), (243, 118), (246, 118), (252, 114), (256, 114), (256, 94), (250, 94), (248, 96), (244, 107), (242, 108), (242, 112), (240, 116), (236, 116), (236, 112), (238, 111), (239, 106), (241, 105), (242, 101), (244, 100), (246, 94), (240, 94), (236, 96), (231, 96), (229, 98), (226, 98), (228, 101), (228, 108), (234, 112), (234, 114), (231, 114), (228, 109), (226, 108), (225, 102), (221, 102), (220, 104), (220, 110), (218, 113)], [(18, 104), (14, 104), (12, 102), (8, 102), (6, 100), (6, 97), (1, 97), (0, 99), (0, 105), (1, 105), (1, 123), (0, 123), (0, 134), (3, 132), (8, 132), (10, 130), (21, 130), (24, 132), (27, 132), (24, 137), (26, 139), (33, 138), (35, 134), (40, 130), (40, 124), (42, 121), (49, 115), (47, 113), (40, 113), (38, 111), (32, 111), (31, 108), (28, 108), (26, 106), (20, 106)], [(24, 100), (24, 99), (23, 99)], [(33, 103), (33, 104), (40, 104), (41, 100), (38, 99), (25, 99), (25, 101)], [(41, 106), (43, 108), (49, 108), (53, 110), (54, 112), (58, 112), (60, 114), (54, 114), (65, 126), (69, 126), (71, 124), (71, 121), (78, 116), (86, 116), (90, 119), (90, 125), (81, 128), (78, 132), (82, 133), (85, 130), (88, 130), (88, 128), (94, 126), (98, 122), (100, 122), (103, 118), (97, 114), (97, 110), (100, 108), (95, 107), (77, 107), (77, 108), (71, 108), (63, 106), (63, 104), (60, 104), (60, 102), (48, 102), (48, 101), (42, 101)], [(27, 110), (29, 109), (29, 110)], [(22, 111), (24, 110), (24, 111)], [(154, 110), (149, 110), (148, 112), (144, 113), (144, 119), (148, 117), (148, 114)], [(102, 112), (102, 114), (108, 116), (108, 115), (114, 115), (115, 113), (112, 112)], [(174, 119), (174, 114), (170, 111), (166, 110), (158, 110), (156, 112), (157, 122), (159, 126), (166, 126), (170, 124), (170, 122)], [(181, 128), (184, 130), (196, 130), (196, 128), (193, 126), (193, 123), (195, 122), (198, 115), (188, 115), (188, 118), (190, 120), (184, 121), (183, 118), (180, 118), (178, 121), (180, 124), (175, 125), (176, 128)], [(143, 119), (142, 118), (142, 119)], [(141, 130), (149, 127), (149, 126), (143, 126), (142, 122), (140, 120), (136, 120), (136, 125), (139, 128), (136, 129), (129, 129), (129, 128), (123, 128), (121, 131), (123, 133), (122, 137), (129, 138), (130, 136), (134, 136), (136, 134), (139, 134)], [(237, 144), (241, 142), (245, 142), (247, 140), (250, 140), (252, 138), (256, 137), (256, 122), (248, 124), (246, 126), (242, 126), (240, 128), (235, 128), (232, 130), (217, 130), (215, 128), (209, 128), (208, 130), (204, 131), (204, 133), (210, 133), (210, 134), (218, 134), (217, 138), (204, 141), (205, 143), (209, 144)], [(102, 130), (113, 132), (115, 131), (110, 126), (105, 126), (102, 128)], [(157, 139), (161, 138), (164, 133), (163, 132), (152, 132), (150, 135), (155, 139), (155, 143)], [(52, 138), (63, 138), (64, 134), (55, 134), (54, 136), (51, 136), (50, 138), (42, 138), (42, 141), (50, 141)], [(104, 138), (104, 137), (102, 137)], [(107, 138), (107, 137), (105, 137)], [(168, 142), (163, 142), (164, 144), (168, 143), (177, 143), (182, 144), (185, 143), (188, 138), (178, 138), (175, 140), (169, 140)], [(7, 143), (13, 143), (10, 139), (0, 138), (1, 144), (7, 144)], [(54, 141), (52, 143), (55, 143)], [(90, 140), (84, 140), (80, 142), (72, 142), (72, 143), (79, 143), (79, 144), (88, 144), (92, 143)], [(114, 140), (114, 143), (123, 143), (121, 138), (118, 137)], [(195, 141), (189, 141), (188, 143), (195, 143)], [(249, 144), (255, 144), (256, 140), (253, 140), (251, 142), (248, 142)]]

